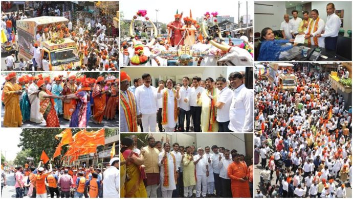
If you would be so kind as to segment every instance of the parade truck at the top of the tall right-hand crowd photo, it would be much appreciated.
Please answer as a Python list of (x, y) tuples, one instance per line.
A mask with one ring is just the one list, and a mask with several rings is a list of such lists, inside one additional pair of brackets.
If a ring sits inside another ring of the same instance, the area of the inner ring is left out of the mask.
[(268, 79), (272, 84), (278, 78), (278, 86), (283, 90), (294, 91), (297, 77), (293, 74), (279, 73), (278, 70), (292, 68), (294, 65), (289, 63), (270, 63)]

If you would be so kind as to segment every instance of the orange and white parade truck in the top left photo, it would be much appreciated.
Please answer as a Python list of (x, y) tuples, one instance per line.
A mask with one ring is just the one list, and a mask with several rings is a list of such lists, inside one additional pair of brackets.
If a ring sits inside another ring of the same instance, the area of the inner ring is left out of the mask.
[(50, 70), (58, 71), (81, 67), (81, 60), (76, 43), (70, 38), (36, 41), (37, 31), (45, 28), (67, 25), (69, 19), (62, 16), (40, 16), (17, 20), (18, 56), (29, 61), (33, 58), (33, 46), (41, 47), (41, 58), (49, 56)]

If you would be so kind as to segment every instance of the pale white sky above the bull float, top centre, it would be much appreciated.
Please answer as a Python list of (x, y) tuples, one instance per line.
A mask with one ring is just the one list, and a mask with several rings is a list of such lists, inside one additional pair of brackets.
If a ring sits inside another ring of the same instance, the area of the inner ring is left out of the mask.
[[(237, 1), (226, 1), (221, 2), (210, 1), (190, 1), (190, 0), (179, 0), (179, 1), (162, 1), (162, 0), (150, 0), (150, 1), (121, 1), (120, 11), (123, 13), (123, 19), (132, 19), (138, 10), (147, 10), (147, 16), (153, 21), (156, 21), (156, 9), (158, 9), (158, 21), (163, 23), (169, 23), (174, 21), (174, 14), (184, 11), (183, 17), (189, 16), (189, 10), (191, 9), (192, 18), (203, 16), (206, 12), (218, 12), (218, 15), (230, 15), (234, 17), (235, 23), (238, 21), (238, 2)], [(254, 18), (254, 3), (248, 2), (248, 14), (251, 14), (251, 19)], [(246, 2), (240, 1), (240, 16), (246, 15)]]

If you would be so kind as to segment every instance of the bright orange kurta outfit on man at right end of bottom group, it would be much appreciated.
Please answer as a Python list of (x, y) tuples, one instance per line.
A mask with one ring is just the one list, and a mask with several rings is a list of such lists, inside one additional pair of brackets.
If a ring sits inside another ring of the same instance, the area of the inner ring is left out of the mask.
[(241, 162), (233, 162), (228, 166), (228, 176), (231, 180), (231, 189), (233, 197), (250, 197), (249, 180), (241, 182), (243, 177), (250, 177), (249, 170)]

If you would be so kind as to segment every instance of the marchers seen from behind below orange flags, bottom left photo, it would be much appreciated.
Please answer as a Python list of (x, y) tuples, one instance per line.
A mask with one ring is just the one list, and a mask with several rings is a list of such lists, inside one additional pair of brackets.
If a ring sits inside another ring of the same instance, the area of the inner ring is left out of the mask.
[[(91, 197), (119, 198), (119, 158), (113, 157), (109, 165), (99, 167), (53, 167), (47, 168), (42, 161), (37, 167), (25, 164), (14, 169), (16, 198), (35, 197)], [(4, 174), (5, 182), (6, 179)], [(13, 176), (9, 176), (13, 177)], [(3, 188), (3, 185), (2, 185)]]

